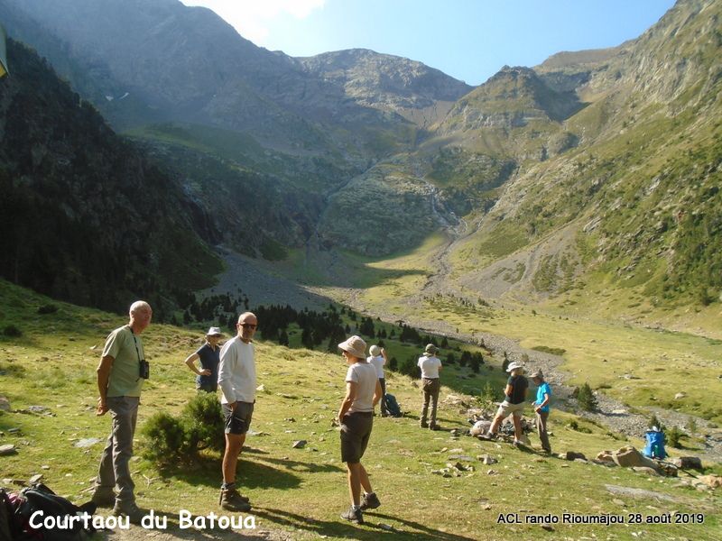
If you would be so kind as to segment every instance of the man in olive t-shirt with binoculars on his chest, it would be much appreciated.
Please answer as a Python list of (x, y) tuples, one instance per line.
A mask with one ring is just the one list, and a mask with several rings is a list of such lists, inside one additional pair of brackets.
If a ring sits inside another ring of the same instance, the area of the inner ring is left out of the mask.
[[(93, 501), (98, 507), (113, 507), (114, 515), (126, 515), (136, 524), (145, 513), (135, 505), (135, 484), (129, 463), (133, 456), (138, 404), (147, 378), (147, 372), (143, 374), (143, 364), (147, 367), (147, 363), (140, 334), (150, 325), (152, 316), (153, 309), (147, 302), (135, 301), (130, 307), (128, 325), (108, 335), (97, 366), (100, 398), (96, 415), (103, 416), (110, 411), (112, 426), (100, 458)], [(113, 491), (116, 486), (117, 496)]]

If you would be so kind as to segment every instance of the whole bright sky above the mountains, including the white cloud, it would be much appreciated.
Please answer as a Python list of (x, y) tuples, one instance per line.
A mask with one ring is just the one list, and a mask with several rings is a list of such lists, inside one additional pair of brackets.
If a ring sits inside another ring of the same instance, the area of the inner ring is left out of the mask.
[(419, 60), (478, 85), (502, 66), (561, 50), (613, 47), (673, 0), (181, 0), (205, 5), (246, 39), (291, 56), (363, 48)]

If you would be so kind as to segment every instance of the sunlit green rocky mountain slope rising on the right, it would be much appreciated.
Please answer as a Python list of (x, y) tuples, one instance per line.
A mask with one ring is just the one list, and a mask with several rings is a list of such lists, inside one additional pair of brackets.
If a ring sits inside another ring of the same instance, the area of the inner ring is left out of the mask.
[(718, 2), (682, 1), (602, 63), (542, 70), (579, 78), (588, 105), (563, 124), (579, 147), (507, 185), (459, 249), (489, 266), (462, 283), (484, 290), (506, 272), (514, 280), (497, 293), (608, 283), (653, 305), (717, 299), (720, 11)]

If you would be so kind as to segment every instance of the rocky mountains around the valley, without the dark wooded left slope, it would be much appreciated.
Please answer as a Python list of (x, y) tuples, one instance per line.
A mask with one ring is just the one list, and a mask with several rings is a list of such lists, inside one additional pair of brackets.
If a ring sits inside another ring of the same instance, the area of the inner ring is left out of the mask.
[[(533, 300), (606, 280), (709, 303), (722, 289), (718, 0), (680, 0), (637, 40), (504, 67), (473, 89), (370, 50), (292, 59), (175, 0), (4, 5), (154, 111), (143, 124), (135, 109), (133, 134), (163, 168), (185, 164), (175, 176), (199, 204), (204, 188), (244, 186), (245, 199), (263, 186), (264, 239), (238, 243), (255, 255), (384, 257), (441, 231), (463, 295)], [(207, 228), (224, 243), (248, 224), (239, 200), (224, 197)]]

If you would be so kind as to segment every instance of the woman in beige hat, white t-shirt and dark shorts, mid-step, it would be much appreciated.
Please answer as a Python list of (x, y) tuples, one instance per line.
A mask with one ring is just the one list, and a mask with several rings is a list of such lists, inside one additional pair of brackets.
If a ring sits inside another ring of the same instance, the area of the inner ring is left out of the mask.
[(338, 408), (338, 423), (341, 426), (341, 462), (346, 463), (351, 496), (351, 508), (341, 518), (363, 524), (362, 511), (381, 505), (361, 464), (374, 425), (374, 407), (381, 399), (381, 383), (374, 365), (366, 362), (366, 342), (361, 337), (351, 336), (338, 344), (338, 348), (348, 365), (346, 396)]

